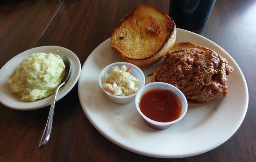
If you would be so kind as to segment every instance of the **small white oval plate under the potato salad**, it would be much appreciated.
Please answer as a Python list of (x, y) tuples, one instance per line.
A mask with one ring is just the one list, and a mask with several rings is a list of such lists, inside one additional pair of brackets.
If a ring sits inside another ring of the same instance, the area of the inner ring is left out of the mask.
[(13, 108), (16, 110), (33, 110), (43, 108), (51, 104), (53, 95), (37, 101), (22, 101), (20, 97), (10, 92), (9, 81), (11, 77), (15, 74), (15, 68), (23, 59), (28, 58), (31, 54), (36, 52), (64, 55), (70, 59), (70, 78), (64, 85), (64, 87), (60, 89), (57, 95), (57, 101), (63, 98), (66, 94), (68, 94), (77, 83), (81, 73), (81, 64), (77, 55), (74, 54), (71, 50), (58, 46), (42, 46), (28, 49), (14, 56), (0, 69), (0, 102), (8, 108)]

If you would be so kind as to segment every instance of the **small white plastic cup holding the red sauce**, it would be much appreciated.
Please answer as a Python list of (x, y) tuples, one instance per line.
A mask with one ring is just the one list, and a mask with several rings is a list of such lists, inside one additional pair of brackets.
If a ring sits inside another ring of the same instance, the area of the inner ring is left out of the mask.
[[(152, 89), (167, 89), (167, 90), (171, 90), (174, 94), (176, 94), (176, 96), (178, 97), (178, 100), (180, 102), (181, 109), (182, 109), (181, 115), (179, 116), (178, 119), (176, 119), (174, 121), (170, 121), (170, 122), (159, 122), (159, 121), (154, 121), (154, 120), (149, 119), (147, 116), (145, 116), (142, 113), (142, 111), (140, 110), (140, 107), (139, 107), (141, 97), (144, 93), (146, 93)], [(172, 124), (180, 121), (185, 116), (185, 114), (187, 112), (187, 107), (188, 107), (185, 95), (178, 88), (172, 86), (171, 84), (164, 83), (164, 82), (149, 83), (149, 84), (145, 85), (144, 87), (142, 87), (141, 89), (139, 89), (139, 91), (137, 92), (137, 95), (135, 97), (135, 105), (136, 105), (138, 112), (142, 116), (143, 121), (149, 127), (155, 128), (155, 129), (166, 129), (166, 128), (169, 128)]]

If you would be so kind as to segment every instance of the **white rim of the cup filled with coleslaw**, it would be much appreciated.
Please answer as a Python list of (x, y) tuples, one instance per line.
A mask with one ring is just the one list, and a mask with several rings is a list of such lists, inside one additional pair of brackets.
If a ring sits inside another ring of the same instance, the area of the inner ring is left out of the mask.
[(100, 88), (101, 88), (107, 95), (110, 95), (110, 96), (112, 96), (112, 97), (114, 97), (114, 98), (126, 99), (126, 98), (129, 98), (129, 97), (135, 96), (138, 92), (136, 92), (136, 93), (134, 93), (134, 94), (126, 95), (126, 96), (119, 96), (119, 95), (110, 94), (109, 92), (107, 92), (107, 91), (103, 88), (102, 82), (101, 82), (101, 76), (102, 76), (103, 72), (106, 71), (106, 69), (110, 69), (111, 67), (118, 66), (118, 65), (120, 65), (120, 66), (125, 65), (125, 66), (130, 66), (130, 67), (132, 67), (132, 68), (135, 68), (135, 69), (139, 72), (139, 74), (142, 76), (142, 84), (140, 84), (140, 85), (142, 85), (142, 86), (139, 87), (139, 90), (144, 87), (145, 82), (146, 82), (146, 78), (145, 78), (144, 73), (142, 72), (142, 70), (141, 70), (139, 67), (137, 67), (136, 65), (134, 65), (134, 64), (132, 64), (132, 63), (129, 63), (129, 62), (114, 62), (114, 63), (111, 63), (111, 64), (107, 65), (106, 67), (104, 67), (104, 68), (100, 71), (100, 76), (99, 76), (99, 80), (98, 80), (99, 85), (100, 85)]

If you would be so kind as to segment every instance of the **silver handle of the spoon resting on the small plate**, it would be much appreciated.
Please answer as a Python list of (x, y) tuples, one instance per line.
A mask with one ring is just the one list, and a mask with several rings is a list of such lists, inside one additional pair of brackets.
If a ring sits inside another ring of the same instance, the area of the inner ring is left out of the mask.
[(50, 112), (49, 112), (48, 119), (47, 119), (47, 122), (46, 122), (46, 126), (44, 128), (43, 136), (41, 138), (41, 141), (39, 143), (38, 148), (42, 148), (49, 141), (50, 132), (51, 132), (51, 128), (52, 128), (52, 121), (53, 121), (53, 114), (54, 114), (54, 108), (55, 108), (57, 93), (59, 91), (59, 88), (61, 88), (64, 84), (65, 84), (65, 82), (61, 83), (57, 87), (57, 89), (55, 90), (54, 97), (53, 97), (53, 100), (52, 100), (52, 104), (51, 104), (51, 107), (50, 107)]

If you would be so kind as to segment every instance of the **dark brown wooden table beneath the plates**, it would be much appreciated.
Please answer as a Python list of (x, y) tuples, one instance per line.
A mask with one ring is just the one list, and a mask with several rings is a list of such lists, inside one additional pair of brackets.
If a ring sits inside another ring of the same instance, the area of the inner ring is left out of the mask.
[[(70, 49), (83, 65), (93, 49), (111, 36), (121, 17), (142, 4), (169, 10), (168, 0), (0, 0), (0, 67), (22, 51), (44, 45)], [(255, 162), (256, 0), (217, 0), (200, 34), (235, 59), (249, 88), (245, 119), (224, 144), (180, 159), (130, 152), (108, 141), (88, 121), (76, 84), (57, 102), (50, 142), (42, 149), (37, 146), (50, 106), (18, 111), (0, 104), (0, 162)]]

